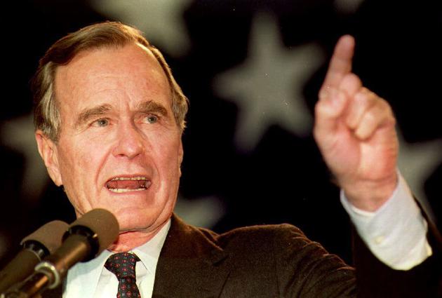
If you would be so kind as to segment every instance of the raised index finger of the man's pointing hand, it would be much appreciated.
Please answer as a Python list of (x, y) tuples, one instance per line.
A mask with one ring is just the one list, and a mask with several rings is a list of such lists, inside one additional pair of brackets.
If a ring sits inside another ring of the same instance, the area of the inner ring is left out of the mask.
[(354, 38), (342, 36), (336, 43), (335, 51), (328, 65), (322, 88), (338, 88), (346, 74), (351, 72), (351, 59), (354, 53)]

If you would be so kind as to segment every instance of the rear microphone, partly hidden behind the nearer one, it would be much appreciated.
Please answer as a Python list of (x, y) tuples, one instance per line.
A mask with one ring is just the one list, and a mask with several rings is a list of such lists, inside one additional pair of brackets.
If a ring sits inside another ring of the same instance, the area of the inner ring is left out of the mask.
[(67, 227), (67, 223), (54, 220), (23, 238), (22, 250), (0, 272), (0, 293), (30, 276), (41, 259), (55, 252)]

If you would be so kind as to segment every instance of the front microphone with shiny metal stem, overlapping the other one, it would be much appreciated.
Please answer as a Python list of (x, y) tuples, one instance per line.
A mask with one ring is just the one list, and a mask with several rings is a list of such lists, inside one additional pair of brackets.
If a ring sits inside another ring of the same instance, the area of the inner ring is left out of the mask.
[(32, 276), (0, 297), (34, 297), (58, 287), (74, 264), (100, 255), (118, 235), (119, 224), (111, 212), (104, 209), (87, 212), (69, 226), (60, 248), (37, 264)]

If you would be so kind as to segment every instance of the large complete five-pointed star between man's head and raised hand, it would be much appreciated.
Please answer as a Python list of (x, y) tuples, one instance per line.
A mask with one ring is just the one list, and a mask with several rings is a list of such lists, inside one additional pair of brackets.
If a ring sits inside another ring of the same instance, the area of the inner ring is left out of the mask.
[(283, 46), (276, 20), (257, 15), (249, 48), (243, 65), (214, 79), (217, 93), (239, 106), (236, 145), (250, 151), (272, 124), (296, 135), (310, 133), (312, 115), (302, 90), (324, 61), (319, 46), (310, 44), (288, 50)]

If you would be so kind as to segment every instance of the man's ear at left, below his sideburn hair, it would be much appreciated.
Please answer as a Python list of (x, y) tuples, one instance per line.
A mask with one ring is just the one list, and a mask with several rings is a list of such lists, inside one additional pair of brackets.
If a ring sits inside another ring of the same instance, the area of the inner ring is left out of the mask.
[(56, 144), (50, 140), (41, 130), (36, 130), (35, 140), (39, 148), (39, 154), (43, 158), (48, 174), (52, 181), (60, 187), (63, 184), (58, 164)]

